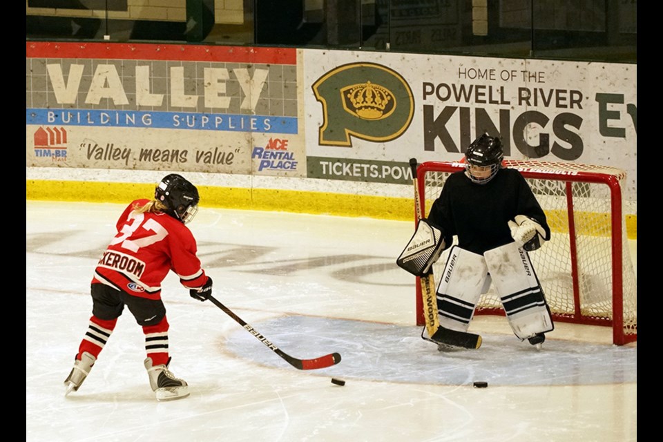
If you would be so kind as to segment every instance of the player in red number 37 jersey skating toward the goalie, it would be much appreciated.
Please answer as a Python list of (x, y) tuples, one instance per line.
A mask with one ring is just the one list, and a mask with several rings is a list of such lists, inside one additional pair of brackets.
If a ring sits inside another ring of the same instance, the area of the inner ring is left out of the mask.
[(198, 212), (199, 199), (198, 189), (173, 173), (157, 184), (153, 200), (135, 200), (124, 209), (117, 234), (95, 269), (93, 314), (64, 381), (66, 394), (85, 381), (126, 306), (145, 334), (144, 365), (157, 400), (189, 396), (186, 382), (169, 370), (161, 283), (172, 270), (192, 298), (204, 301), (211, 295), (212, 280), (200, 266), (195, 239), (185, 225)]

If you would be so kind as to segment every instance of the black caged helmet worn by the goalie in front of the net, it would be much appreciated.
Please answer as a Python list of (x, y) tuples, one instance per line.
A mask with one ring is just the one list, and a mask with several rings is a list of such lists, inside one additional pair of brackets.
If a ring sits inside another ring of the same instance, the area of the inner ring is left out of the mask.
[(474, 140), (465, 152), (465, 175), (477, 184), (486, 184), (497, 175), (504, 158), (502, 142), (487, 133)]

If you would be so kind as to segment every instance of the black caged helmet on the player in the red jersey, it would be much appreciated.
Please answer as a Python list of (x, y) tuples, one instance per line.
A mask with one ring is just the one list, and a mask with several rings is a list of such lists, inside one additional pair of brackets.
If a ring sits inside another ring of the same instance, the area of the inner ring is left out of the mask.
[(198, 213), (198, 189), (182, 175), (166, 175), (154, 191), (154, 198), (166, 206), (166, 213), (186, 224)]

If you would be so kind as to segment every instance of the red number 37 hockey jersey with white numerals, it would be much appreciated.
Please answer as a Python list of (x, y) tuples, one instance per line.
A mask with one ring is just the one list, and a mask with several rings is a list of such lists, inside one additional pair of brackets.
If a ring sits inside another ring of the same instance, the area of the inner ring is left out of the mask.
[(117, 235), (97, 263), (94, 283), (102, 283), (142, 298), (159, 299), (161, 283), (170, 270), (187, 289), (207, 281), (200, 267), (193, 234), (166, 213), (136, 213), (149, 200), (135, 200), (117, 220)]

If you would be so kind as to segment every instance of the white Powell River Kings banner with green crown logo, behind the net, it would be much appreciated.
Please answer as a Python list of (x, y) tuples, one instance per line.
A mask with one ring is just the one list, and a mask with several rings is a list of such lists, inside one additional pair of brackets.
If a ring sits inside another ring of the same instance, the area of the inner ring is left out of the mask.
[(636, 200), (637, 65), (305, 50), (307, 176), (407, 184), (481, 133), (506, 159), (624, 169)]

